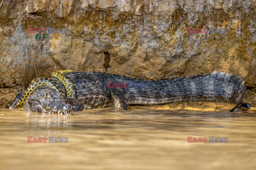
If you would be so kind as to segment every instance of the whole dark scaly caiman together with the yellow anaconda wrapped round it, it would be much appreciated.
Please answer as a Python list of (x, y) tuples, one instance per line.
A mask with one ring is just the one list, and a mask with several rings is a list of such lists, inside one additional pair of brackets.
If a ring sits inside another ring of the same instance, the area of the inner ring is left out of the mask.
[(127, 105), (220, 101), (236, 104), (231, 111), (239, 111), (242, 106), (251, 107), (243, 103), (245, 93), (241, 78), (217, 71), (170, 80), (141, 80), (69, 69), (53, 72), (51, 78), (34, 79), (9, 108), (21, 105), (27, 112), (73, 114), (102, 107), (127, 109)]

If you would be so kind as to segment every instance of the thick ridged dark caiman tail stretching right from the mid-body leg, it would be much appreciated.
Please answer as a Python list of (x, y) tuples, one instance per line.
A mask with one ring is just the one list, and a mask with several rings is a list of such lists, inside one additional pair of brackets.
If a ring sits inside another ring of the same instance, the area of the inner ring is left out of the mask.
[(132, 90), (127, 104), (166, 104), (176, 101), (220, 101), (240, 104), (245, 96), (245, 83), (237, 75), (217, 71), (211, 74), (147, 81), (146, 90)]

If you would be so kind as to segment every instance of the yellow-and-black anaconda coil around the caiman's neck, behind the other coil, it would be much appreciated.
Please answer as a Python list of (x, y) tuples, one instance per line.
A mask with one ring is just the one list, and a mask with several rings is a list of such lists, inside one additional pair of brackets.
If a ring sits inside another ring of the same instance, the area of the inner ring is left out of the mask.
[(74, 69), (60, 70), (52, 72), (52, 77), (57, 78), (63, 84), (67, 92), (67, 98), (77, 99), (75, 84), (65, 73), (74, 72)]

